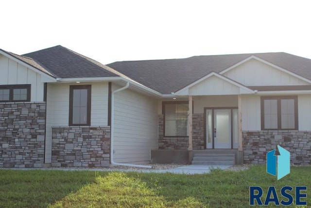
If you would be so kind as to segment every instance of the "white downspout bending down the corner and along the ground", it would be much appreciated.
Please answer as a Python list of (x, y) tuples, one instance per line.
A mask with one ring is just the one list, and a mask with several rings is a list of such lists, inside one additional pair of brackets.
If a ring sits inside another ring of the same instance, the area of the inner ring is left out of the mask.
[(116, 163), (113, 161), (113, 142), (114, 142), (114, 98), (115, 98), (115, 93), (118, 93), (122, 90), (125, 90), (129, 87), (130, 83), (127, 82), (126, 85), (118, 90), (115, 90), (111, 93), (111, 125), (110, 125), (110, 163), (112, 165), (119, 165), (119, 166), (131, 166), (131, 167), (138, 167), (138, 168), (152, 168), (152, 166), (145, 166), (145, 165), (136, 165), (136, 164), (128, 164), (128, 163)]

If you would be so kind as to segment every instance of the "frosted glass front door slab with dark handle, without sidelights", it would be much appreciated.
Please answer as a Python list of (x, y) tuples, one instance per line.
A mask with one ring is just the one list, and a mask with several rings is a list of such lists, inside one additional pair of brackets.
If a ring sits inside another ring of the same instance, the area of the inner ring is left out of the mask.
[(214, 148), (231, 148), (231, 110), (214, 110)]

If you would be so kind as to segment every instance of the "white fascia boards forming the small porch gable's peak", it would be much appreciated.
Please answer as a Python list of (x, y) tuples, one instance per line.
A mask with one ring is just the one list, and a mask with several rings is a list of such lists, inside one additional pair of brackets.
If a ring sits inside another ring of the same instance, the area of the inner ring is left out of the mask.
[[(223, 79), (223, 80), (225, 80), (226, 82), (229, 82), (229, 83), (231, 83), (231, 84), (233, 84), (233, 85), (235, 85), (235, 86), (237, 86), (237, 87), (239, 87), (239, 88), (242, 88), (242, 89), (243, 89), (244, 91), (246, 91), (246, 92), (254, 93), (253, 90), (251, 90), (251, 89), (249, 89), (249, 88), (247, 88), (247, 87), (245, 87), (245, 86), (239, 84), (238, 82), (233, 81), (233, 80), (231, 80), (231, 79), (229, 79), (229, 78), (227, 78), (227, 77), (225, 77), (225, 76), (219, 75), (219, 74), (217, 74), (217, 73), (215, 73), (215, 72), (212, 72), (212, 73), (209, 73), (207, 76), (204, 76), (204, 77), (202, 77), (202, 78), (196, 80), (195, 82), (192, 82), (190, 85), (188, 85), (188, 86), (182, 88), (181, 90), (178, 90), (178, 91), (177, 91), (176, 93), (174, 93), (174, 94), (175, 94), (175, 95), (186, 95), (186, 93), (189, 94), (189, 89), (190, 89), (190, 87), (192, 87), (192, 86), (194, 86), (194, 85), (200, 83), (201, 81), (204, 81), (205, 79), (207, 79), (207, 78), (210, 77), (210, 76), (217, 76), (218, 78)], [(188, 94), (187, 94), (187, 95), (188, 95)]]

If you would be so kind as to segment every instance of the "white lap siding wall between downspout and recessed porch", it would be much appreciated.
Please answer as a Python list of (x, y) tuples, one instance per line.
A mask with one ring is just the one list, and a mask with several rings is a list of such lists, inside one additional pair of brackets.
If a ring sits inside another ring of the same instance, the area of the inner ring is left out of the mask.
[(150, 162), (152, 149), (157, 149), (157, 101), (131, 89), (116, 93), (114, 162)]

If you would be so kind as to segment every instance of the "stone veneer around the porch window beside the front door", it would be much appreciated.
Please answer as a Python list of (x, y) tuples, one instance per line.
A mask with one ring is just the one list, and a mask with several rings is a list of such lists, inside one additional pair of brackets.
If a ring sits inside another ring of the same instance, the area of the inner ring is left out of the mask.
[[(164, 137), (164, 116), (158, 115), (158, 148), (159, 150), (187, 150), (189, 137)], [(192, 148), (204, 149), (204, 114), (192, 115)]]

